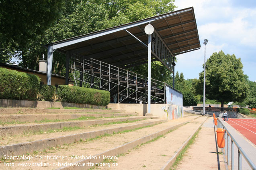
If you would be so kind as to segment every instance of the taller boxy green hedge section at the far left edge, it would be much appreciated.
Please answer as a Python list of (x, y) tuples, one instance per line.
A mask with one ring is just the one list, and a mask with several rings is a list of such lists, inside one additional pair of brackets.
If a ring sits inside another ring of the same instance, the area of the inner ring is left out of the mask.
[(36, 100), (40, 78), (33, 74), (0, 68), (0, 98)]

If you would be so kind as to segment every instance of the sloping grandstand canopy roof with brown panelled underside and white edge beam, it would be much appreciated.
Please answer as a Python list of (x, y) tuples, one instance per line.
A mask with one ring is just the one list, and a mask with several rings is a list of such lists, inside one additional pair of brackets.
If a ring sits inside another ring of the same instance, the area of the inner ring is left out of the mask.
[[(121, 68), (147, 62), (148, 35), (144, 28), (151, 23), (152, 61), (160, 60), (169, 69), (178, 54), (199, 49), (200, 41), (193, 7), (115, 26), (105, 30), (47, 44), (53, 51), (94, 58)], [(136, 38), (135, 38), (136, 37)], [(143, 43), (141, 43), (141, 42)], [(171, 70), (171, 69), (170, 69)]]

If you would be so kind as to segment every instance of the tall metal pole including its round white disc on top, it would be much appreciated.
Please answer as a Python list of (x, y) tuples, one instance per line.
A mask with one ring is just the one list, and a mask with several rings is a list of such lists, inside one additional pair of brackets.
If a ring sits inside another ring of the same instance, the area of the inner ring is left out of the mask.
[(147, 53), (147, 113), (150, 113), (150, 99), (151, 99), (151, 34), (154, 32), (154, 27), (148, 24), (144, 28), (145, 33), (148, 34), (148, 53)]

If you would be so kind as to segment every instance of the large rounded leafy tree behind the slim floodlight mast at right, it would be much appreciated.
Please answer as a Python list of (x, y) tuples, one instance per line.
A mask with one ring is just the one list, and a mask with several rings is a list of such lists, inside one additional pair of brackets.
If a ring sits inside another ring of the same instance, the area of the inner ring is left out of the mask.
[[(236, 56), (214, 52), (207, 60), (205, 75), (205, 89), (208, 99), (221, 102), (242, 102), (248, 92), (248, 85), (243, 74), (243, 65), (240, 58)], [(197, 90), (203, 93), (203, 74), (199, 75)]]

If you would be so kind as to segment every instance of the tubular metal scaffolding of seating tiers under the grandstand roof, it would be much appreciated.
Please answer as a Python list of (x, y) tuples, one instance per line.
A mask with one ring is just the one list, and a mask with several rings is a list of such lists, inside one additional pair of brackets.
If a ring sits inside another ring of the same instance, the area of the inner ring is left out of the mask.
[[(108, 90), (113, 103), (147, 103), (147, 77), (77, 54), (70, 61), (76, 86)], [(151, 79), (151, 103), (166, 103), (166, 86)]]

